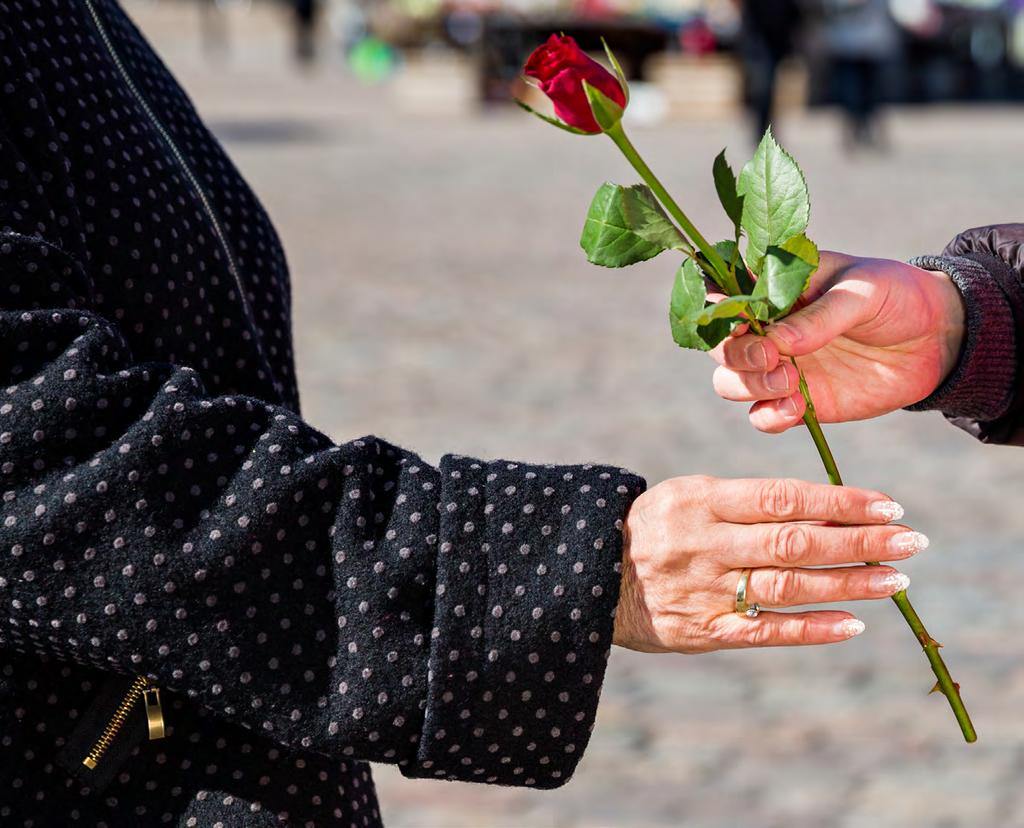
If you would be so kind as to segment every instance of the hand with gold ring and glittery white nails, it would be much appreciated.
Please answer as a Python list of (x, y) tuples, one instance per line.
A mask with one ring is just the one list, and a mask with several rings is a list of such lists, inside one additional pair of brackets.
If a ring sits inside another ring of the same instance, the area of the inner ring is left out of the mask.
[[(831, 644), (863, 631), (848, 612), (735, 611), (753, 568), (750, 604), (781, 609), (888, 598), (909, 579), (888, 566), (928, 538), (891, 525), (903, 515), (877, 491), (799, 480), (680, 477), (654, 486), (626, 519), (614, 643), (642, 652)], [(824, 525), (833, 521), (843, 525)], [(814, 569), (812, 567), (830, 567)]]

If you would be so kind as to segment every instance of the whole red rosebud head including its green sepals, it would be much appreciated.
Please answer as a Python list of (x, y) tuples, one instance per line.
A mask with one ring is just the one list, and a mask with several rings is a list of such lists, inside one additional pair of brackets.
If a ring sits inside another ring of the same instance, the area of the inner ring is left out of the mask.
[(589, 57), (565, 35), (552, 35), (547, 43), (539, 46), (526, 60), (523, 74), (538, 81), (537, 85), (551, 99), (555, 115), (561, 120), (534, 114), (569, 132), (586, 135), (598, 135), (614, 127), (622, 120), (629, 96), (618, 61), (607, 44), (604, 48), (615, 75)]

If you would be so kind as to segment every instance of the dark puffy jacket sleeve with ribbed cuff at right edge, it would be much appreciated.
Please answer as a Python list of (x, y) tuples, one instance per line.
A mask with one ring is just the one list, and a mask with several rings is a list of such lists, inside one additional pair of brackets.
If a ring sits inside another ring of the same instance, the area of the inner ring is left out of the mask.
[(967, 324), (956, 366), (910, 409), (940, 410), (985, 442), (1024, 445), (1024, 224), (966, 230), (912, 264), (949, 274)]

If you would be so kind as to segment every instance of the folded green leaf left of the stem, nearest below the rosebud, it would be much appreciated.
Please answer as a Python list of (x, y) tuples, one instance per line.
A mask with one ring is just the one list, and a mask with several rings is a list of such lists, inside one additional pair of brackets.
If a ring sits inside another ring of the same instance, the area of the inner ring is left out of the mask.
[(666, 250), (683, 250), (686, 238), (644, 184), (604, 183), (587, 211), (580, 245), (602, 267), (626, 267)]

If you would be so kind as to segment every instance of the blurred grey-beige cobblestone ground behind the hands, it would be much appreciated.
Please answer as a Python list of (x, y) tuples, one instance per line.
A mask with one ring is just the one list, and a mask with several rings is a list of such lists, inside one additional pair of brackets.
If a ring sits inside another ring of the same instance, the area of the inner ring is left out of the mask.
[[(295, 278), (304, 412), (339, 439), (374, 432), (436, 461), (455, 450), (820, 478), (806, 435), (766, 437), (715, 398), (666, 321), (672, 268), (590, 267), (577, 247), (610, 145), (516, 112), (403, 117), (336, 61), (287, 60), (280, 20), (232, 6), (204, 56), (193, 5), (130, 3), (264, 200)], [(827, 116), (783, 124), (825, 247), (937, 252), (957, 230), (1024, 217), (1019, 110), (901, 112), (894, 149), (845, 158)], [(737, 125), (637, 132), (698, 224)], [(379, 769), (391, 828), (1024, 825), (1024, 451), (938, 416), (830, 429), (849, 481), (907, 507), (932, 548), (905, 568), (946, 645), (981, 740), (961, 742), (896, 610), (830, 649), (649, 657), (616, 652), (575, 780), (534, 792), (402, 780)]]

